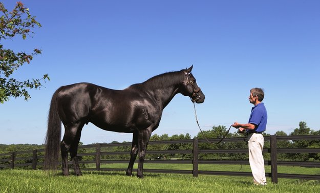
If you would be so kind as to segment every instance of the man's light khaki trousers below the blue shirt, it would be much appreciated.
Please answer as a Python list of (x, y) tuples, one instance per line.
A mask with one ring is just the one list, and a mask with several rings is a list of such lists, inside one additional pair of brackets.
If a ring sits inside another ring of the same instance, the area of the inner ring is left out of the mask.
[(253, 183), (261, 185), (267, 183), (262, 155), (263, 144), (264, 138), (262, 134), (252, 133), (248, 135), (249, 163), (253, 176)]

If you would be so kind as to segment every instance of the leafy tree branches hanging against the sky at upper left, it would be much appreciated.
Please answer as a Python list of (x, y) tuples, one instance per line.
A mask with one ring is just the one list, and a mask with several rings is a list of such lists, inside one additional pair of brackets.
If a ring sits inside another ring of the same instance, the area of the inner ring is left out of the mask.
[(41, 24), (21, 2), (17, 2), (10, 12), (0, 2), (0, 14), (0, 102), (4, 103), (11, 96), (25, 97), (25, 100), (28, 100), (30, 95), (27, 89), (40, 89), (41, 81), (50, 80), (48, 74), (43, 75), (42, 78), (23, 81), (13, 78), (12, 75), (19, 67), (29, 64), (33, 56), (41, 54), (41, 50), (35, 48), (31, 53), (14, 52), (11, 49), (5, 49), (3, 41), (15, 36), (21, 36), (23, 39), (32, 37), (31, 34), (34, 33), (32, 29), (41, 27)]

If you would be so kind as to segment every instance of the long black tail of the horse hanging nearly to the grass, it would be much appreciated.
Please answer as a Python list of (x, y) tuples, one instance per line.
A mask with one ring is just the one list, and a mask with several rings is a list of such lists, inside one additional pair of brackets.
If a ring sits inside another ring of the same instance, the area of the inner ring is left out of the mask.
[(61, 119), (58, 114), (57, 98), (61, 88), (53, 94), (50, 103), (48, 130), (46, 135), (45, 169), (57, 169), (58, 166), (61, 139)]

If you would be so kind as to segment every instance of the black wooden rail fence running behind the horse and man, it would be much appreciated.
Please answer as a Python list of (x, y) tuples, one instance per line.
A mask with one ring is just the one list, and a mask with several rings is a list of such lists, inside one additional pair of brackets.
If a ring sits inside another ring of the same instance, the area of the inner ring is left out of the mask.
[[(209, 139), (210, 142), (215, 143), (220, 139)], [(287, 166), (302, 166), (302, 167), (320, 167), (319, 161), (281, 161), (277, 159), (279, 153), (320, 153), (320, 148), (278, 148), (277, 141), (290, 141), (290, 140), (320, 140), (320, 135), (308, 135), (308, 136), (265, 136), (265, 141), (270, 141), (270, 148), (264, 148), (263, 153), (270, 153), (269, 160), (265, 160), (265, 165), (270, 165), (271, 173), (266, 173), (266, 177), (270, 177), (273, 183), (278, 183), (278, 178), (291, 178), (291, 179), (305, 179), (305, 180), (320, 180), (320, 175), (302, 175), (302, 174), (279, 174), (278, 165)], [(243, 138), (225, 138), (225, 142), (239, 142), (243, 141)], [(153, 144), (192, 144), (192, 149), (185, 150), (163, 150), (163, 151), (147, 151), (148, 155), (151, 154), (190, 154), (192, 159), (146, 159), (144, 163), (161, 163), (161, 164), (193, 164), (192, 170), (170, 170), (170, 169), (144, 169), (147, 173), (177, 173), (177, 174), (192, 174), (194, 177), (198, 175), (223, 175), (223, 176), (251, 176), (250, 172), (241, 171), (207, 171), (199, 170), (199, 164), (242, 164), (248, 165), (248, 160), (202, 160), (198, 159), (199, 154), (239, 154), (248, 153), (248, 149), (199, 149), (199, 143), (207, 143), (203, 139), (189, 139), (189, 140), (170, 140), (170, 141), (150, 141), (150, 145)], [(101, 164), (111, 163), (129, 163), (128, 160), (103, 160), (102, 156), (111, 155), (124, 155), (130, 154), (129, 151), (124, 152), (103, 152), (101, 148), (114, 147), (114, 146), (131, 146), (131, 143), (110, 143), (110, 144), (94, 144), (94, 145), (82, 145), (80, 148), (95, 149), (91, 153), (79, 153), (78, 156), (92, 156), (94, 160), (79, 161), (79, 164), (91, 164), (95, 165), (95, 168), (82, 168), (82, 170), (124, 170), (119, 168), (101, 168)], [(31, 155), (25, 157), (24, 155)], [(19, 156), (22, 155), (22, 156)], [(25, 163), (18, 163), (19, 160), (25, 160)], [(36, 149), (34, 151), (25, 152), (12, 152), (7, 154), (0, 154), (0, 168), (14, 168), (14, 167), (37, 167), (43, 166), (44, 149)]]

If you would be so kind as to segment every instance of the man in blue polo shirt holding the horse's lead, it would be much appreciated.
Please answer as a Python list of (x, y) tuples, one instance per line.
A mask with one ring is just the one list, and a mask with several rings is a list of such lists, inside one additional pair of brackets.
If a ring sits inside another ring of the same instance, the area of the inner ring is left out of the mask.
[(266, 130), (268, 116), (267, 110), (262, 102), (263, 98), (264, 92), (262, 89), (251, 89), (249, 102), (254, 106), (251, 109), (248, 123), (241, 124), (234, 122), (232, 125), (241, 132), (246, 132), (248, 135), (249, 163), (252, 171), (253, 183), (255, 185), (267, 185), (262, 155), (264, 144), (262, 132)]

